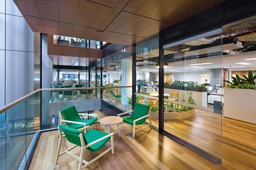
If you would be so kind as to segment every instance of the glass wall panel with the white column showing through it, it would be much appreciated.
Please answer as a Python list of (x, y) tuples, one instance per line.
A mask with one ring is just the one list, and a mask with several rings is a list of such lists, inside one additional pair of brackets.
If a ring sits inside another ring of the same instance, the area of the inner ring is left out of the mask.
[[(132, 86), (131, 46), (102, 59), (102, 84), (106, 87)], [(132, 110), (132, 88), (106, 88), (103, 99), (123, 110)]]

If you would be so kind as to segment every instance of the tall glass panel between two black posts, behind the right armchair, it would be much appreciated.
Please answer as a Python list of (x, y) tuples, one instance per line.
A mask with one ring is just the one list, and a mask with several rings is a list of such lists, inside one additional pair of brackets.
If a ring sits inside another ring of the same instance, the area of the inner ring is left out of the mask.
[[(158, 129), (158, 79), (159, 79), (159, 37), (137, 43), (136, 54), (136, 103), (150, 105), (152, 125)], [(146, 120), (148, 123), (149, 119)]]

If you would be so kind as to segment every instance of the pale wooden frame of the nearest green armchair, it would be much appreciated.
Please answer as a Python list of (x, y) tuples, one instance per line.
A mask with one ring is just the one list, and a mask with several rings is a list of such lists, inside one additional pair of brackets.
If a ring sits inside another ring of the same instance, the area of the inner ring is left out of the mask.
[[(84, 127), (85, 129), (89, 128), (89, 126)], [(56, 160), (55, 160), (55, 165), (57, 165), (58, 163), (58, 157), (62, 156), (63, 154), (67, 153), (70, 154), (71, 156), (73, 156), (75, 159), (79, 160), (79, 165), (78, 165), (78, 170), (89, 166), (91, 163), (93, 163), (94, 161), (98, 160), (98, 158), (100, 158), (101, 156), (103, 156), (104, 154), (106, 154), (107, 152), (109, 152), (110, 150), (112, 151), (112, 154), (114, 154), (114, 133), (110, 133), (109, 135), (106, 135), (100, 139), (97, 139), (96, 141), (93, 141), (92, 143), (89, 144), (85, 144), (85, 141), (83, 139), (83, 134), (81, 133), (79, 135), (80, 141), (81, 141), (81, 151), (80, 151), (80, 156), (76, 156), (75, 154), (73, 154), (72, 152), (70, 152), (70, 150), (74, 149), (76, 146), (76, 144), (74, 144), (73, 146), (71, 146), (70, 148), (68, 148), (67, 150), (64, 150), (64, 152), (60, 153), (60, 148), (61, 148), (61, 144), (62, 144), (62, 138), (64, 138), (65, 136), (62, 135), (62, 131), (60, 131), (60, 128), (58, 128), (58, 135), (60, 136), (60, 139), (58, 140), (58, 150), (57, 150), (57, 155), (56, 155)], [(110, 148), (108, 148), (107, 150), (105, 150), (104, 152), (102, 152), (101, 154), (99, 154), (98, 156), (96, 156), (95, 158), (93, 158), (93, 160), (91, 161), (86, 161), (83, 160), (83, 154), (85, 152), (85, 149), (88, 148), (89, 146), (98, 143), (99, 141), (102, 141), (103, 139), (106, 139), (107, 137), (110, 137), (110, 141), (111, 141), (111, 146)], [(84, 164), (84, 165), (83, 165)]]

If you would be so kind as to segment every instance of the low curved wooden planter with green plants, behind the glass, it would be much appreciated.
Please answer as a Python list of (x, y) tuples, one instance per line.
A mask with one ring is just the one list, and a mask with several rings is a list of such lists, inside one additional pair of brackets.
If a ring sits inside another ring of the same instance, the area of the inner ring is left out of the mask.
[[(152, 119), (158, 119), (158, 112), (150, 112)], [(180, 120), (195, 116), (195, 109), (184, 112), (164, 112), (164, 120)]]

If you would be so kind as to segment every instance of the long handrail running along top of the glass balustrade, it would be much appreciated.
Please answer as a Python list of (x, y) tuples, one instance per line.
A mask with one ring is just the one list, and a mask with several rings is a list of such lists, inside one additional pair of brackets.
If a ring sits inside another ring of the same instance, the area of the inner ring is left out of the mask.
[(10, 109), (14, 105), (17, 105), (21, 101), (24, 101), (24, 99), (27, 99), (28, 97), (32, 96), (37, 92), (52, 91), (52, 90), (87, 90), (87, 89), (108, 89), (108, 88), (132, 88), (132, 87), (133, 86), (107, 86), (107, 87), (90, 87), (90, 88), (40, 88), (31, 93), (28, 93), (27, 95), (24, 95), (23, 97), (20, 97), (19, 99), (16, 99), (15, 101), (12, 101), (12, 103), (9, 103), (8, 105), (5, 105), (0, 109), (0, 114)]

